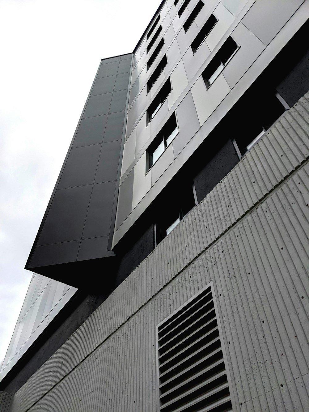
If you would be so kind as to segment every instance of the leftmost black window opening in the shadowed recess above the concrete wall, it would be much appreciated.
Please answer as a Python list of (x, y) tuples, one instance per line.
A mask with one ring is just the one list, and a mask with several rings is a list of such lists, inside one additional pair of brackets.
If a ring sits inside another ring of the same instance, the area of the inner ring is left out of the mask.
[(193, 182), (183, 180), (181, 185), (169, 187), (164, 201), (157, 207), (155, 246), (159, 244), (196, 206)]

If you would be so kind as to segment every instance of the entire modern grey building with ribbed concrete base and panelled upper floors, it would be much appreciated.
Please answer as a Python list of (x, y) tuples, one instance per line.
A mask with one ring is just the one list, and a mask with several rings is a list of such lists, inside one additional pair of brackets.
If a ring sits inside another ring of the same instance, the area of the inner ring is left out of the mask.
[(100, 62), (3, 410), (308, 409), (308, 18), (304, 0), (164, 0)]

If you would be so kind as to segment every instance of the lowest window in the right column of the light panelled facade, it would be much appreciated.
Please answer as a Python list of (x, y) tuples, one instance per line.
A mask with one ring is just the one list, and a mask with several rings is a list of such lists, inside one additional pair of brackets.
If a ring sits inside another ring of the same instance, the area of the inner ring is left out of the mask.
[(233, 40), (231, 36), (227, 37), (227, 40), (225, 40), (215, 57), (202, 73), (207, 88), (213, 84), (238, 49), (239, 45), (235, 40)]

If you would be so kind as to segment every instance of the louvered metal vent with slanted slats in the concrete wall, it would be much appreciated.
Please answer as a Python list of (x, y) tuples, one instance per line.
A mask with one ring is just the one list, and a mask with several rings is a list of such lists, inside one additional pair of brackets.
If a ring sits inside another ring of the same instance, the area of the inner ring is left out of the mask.
[(232, 411), (211, 287), (158, 326), (160, 411)]

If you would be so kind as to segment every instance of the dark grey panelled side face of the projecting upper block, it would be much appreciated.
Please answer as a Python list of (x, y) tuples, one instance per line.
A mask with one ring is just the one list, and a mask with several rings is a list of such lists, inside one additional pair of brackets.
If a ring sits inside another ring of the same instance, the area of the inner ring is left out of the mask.
[(115, 255), (103, 237), (114, 228), (132, 59), (101, 62), (26, 269), (72, 284), (69, 264), (79, 262), (76, 273), (81, 261)]

